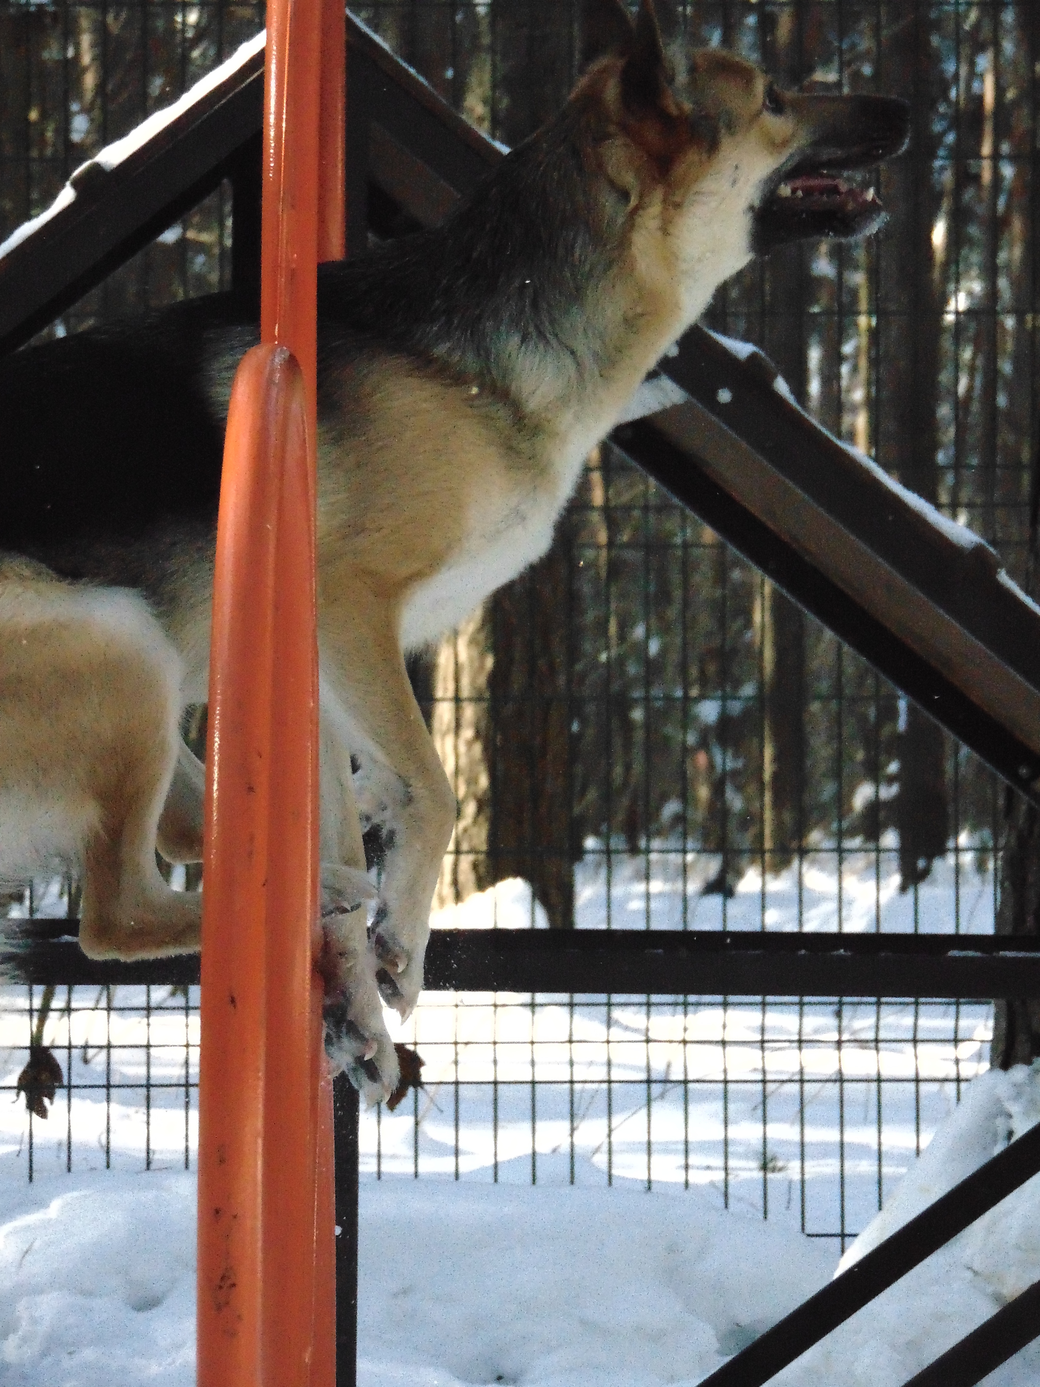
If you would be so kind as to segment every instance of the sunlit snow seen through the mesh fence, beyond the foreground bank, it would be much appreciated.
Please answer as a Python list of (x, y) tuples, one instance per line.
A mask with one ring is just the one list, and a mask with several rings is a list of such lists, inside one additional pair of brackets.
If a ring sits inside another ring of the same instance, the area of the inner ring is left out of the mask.
[[(765, 884), (770, 928), (838, 925), (833, 853), (806, 857)], [(578, 867), (580, 921), (614, 925), (721, 922), (752, 928), (763, 889), (747, 872), (736, 895), (697, 896), (717, 861), (681, 853)], [(684, 872), (686, 875), (684, 889)], [(697, 872), (700, 874), (697, 877)], [(842, 859), (842, 924), (874, 929), (993, 928), (993, 878), (969, 849), (937, 863), (917, 893), (900, 896), (883, 850)], [(648, 885), (649, 882), (649, 885)], [(876, 908), (875, 908), (876, 903)], [(65, 902), (39, 889), (33, 906)], [(435, 917), (435, 925), (526, 928), (544, 922), (521, 881), (499, 884)], [(39, 989), (37, 989), (39, 1001)], [(72, 1017), (58, 996), (46, 1039), (72, 1090), (32, 1128), (22, 1104), (0, 1103), (0, 1179), (25, 1179), (29, 1140), (37, 1176), (148, 1160), (183, 1166), (194, 1150), (198, 1017), (168, 989), (78, 989)], [(391, 1022), (394, 1018), (390, 1018)], [(717, 1207), (768, 1211), (817, 1234), (858, 1233), (887, 1200), (921, 1144), (954, 1110), (961, 1087), (987, 1064), (990, 1008), (980, 1004), (759, 997), (549, 997), (427, 993), (395, 1037), (424, 1060), (426, 1087), (395, 1112), (366, 1114), (366, 1173), (467, 1182), (609, 1182), (697, 1186)], [(28, 996), (0, 997), (0, 1087), (14, 1097), (29, 1035)], [(151, 1049), (146, 1039), (151, 1037)], [(111, 1096), (111, 1104), (107, 1097)], [(649, 1139), (649, 1140), (648, 1140)], [(19, 1172), (19, 1173), (17, 1173)]]

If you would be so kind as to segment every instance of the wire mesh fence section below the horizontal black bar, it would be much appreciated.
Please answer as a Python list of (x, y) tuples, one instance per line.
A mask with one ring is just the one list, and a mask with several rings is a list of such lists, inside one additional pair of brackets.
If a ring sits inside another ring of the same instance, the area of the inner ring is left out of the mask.
[[(194, 1168), (196, 988), (0, 1001), (4, 1176)], [(697, 1187), (844, 1247), (986, 1068), (990, 1025), (912, 1000), (434, 993), (401, 1029), (422, 1087), (362, 1117), (361, 1169)]]

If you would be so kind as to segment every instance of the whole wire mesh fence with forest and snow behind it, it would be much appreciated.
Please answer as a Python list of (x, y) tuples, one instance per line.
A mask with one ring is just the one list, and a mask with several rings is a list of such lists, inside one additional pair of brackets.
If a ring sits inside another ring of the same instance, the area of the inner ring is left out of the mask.
[[(886, 230), (749, 268), (710, 322), (1030, 583), (1036, 7), (674, 10), (781, 82), (912, 100), (911, 153), (878, 179)], [(573, 3), (358, 12), (506, 143), (575, 71)], [(0, 236), (261, 22), (248, 4), (3, 0)], [(227, 287), (232, 233), (222, 189), (49, 333)], [(460, 806), (442, 924), (994, 928), (1008, 804), (990, 773), (612, 445), (546, 559), (413, 674)], [(4, 993), (12, 1096), (39, 1000)], [(196, 1003), (58, 993), (46, 1043), (68, 1086), (46, 1129), (11, 1103), (3, 1160), (190, 1160)], [(365, 1118), (363, 1166), (707, 1183), (847, 1237), (985, 1067), (990, 1026), (939, 1003), (430, 996), (402, 1033), (426, 1087)]]

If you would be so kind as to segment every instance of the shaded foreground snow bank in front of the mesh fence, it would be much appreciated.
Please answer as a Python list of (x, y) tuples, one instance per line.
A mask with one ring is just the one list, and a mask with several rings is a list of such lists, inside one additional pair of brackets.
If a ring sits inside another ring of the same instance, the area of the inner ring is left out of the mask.
[[(1037, 1118), (1040, 1069), (979, 1079), (893, 1201), (896, 1221)], [(693, 1384), (835, 1261), (699, 1191), (392, 1179), (363, 1182), (361, 1198), (362, 1387)], [(193, 1244), (190, 1173), (0, 1180), (4, 1387), (190, 1387)], [(778, 1383), (901, 1387), (1039, 1272), (1040, 1178)], [(1039, 1379), (1032, 1348), (987, 1381)]]

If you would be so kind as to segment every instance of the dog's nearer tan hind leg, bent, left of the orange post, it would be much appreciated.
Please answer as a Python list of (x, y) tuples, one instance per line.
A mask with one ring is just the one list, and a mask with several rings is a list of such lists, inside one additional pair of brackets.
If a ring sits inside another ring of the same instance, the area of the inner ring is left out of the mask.
[(200, 896), (172, 890), (155, 864), (180, 660), (144, 602), (0, 583), (0, 868), (79, 865), (92, 957), (198, 949)]

